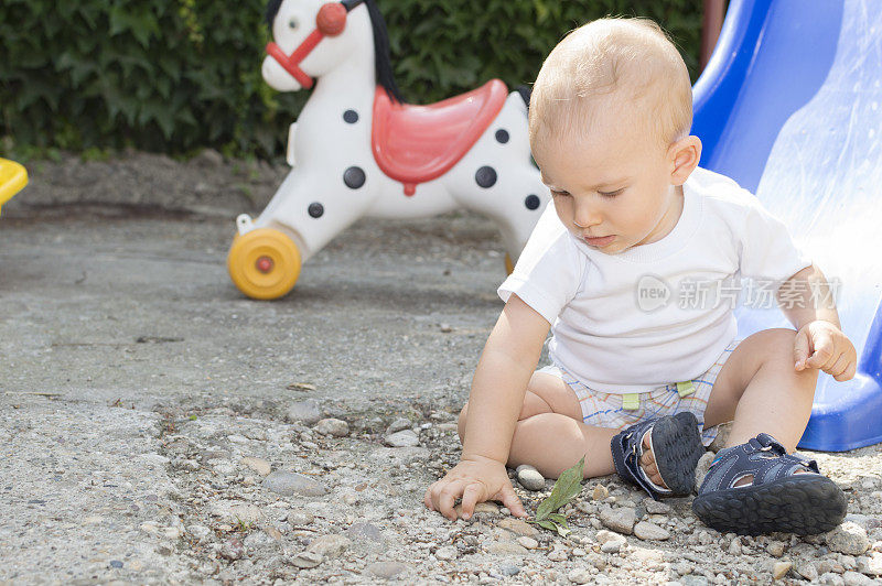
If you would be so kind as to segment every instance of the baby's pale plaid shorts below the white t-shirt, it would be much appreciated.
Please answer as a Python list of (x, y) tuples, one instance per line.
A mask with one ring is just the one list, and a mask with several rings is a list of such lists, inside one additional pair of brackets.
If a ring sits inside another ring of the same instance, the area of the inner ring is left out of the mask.
[(572, 389), (582, 408), (582, 421), (588, 425), (623, 430), (641, 421), (691, 411), (701, 426), (701, 442), (708, 446), (717, 437), (717, 426), (704, 428), (704, 410), (720, 370), (740, 341), (733, 340), (713, 366), (697, 379), (656, 387), (642, 393), (595, 391), (558, 366), (547, 366), (539, 372), (555, 375)]

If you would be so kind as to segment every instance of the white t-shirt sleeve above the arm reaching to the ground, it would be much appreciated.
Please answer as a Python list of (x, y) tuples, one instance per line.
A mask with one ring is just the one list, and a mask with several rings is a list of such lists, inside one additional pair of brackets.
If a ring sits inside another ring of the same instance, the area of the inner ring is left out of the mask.
[(516, 294), (553, 325), (579, 291), (585, 262), (549, 204), (497, 293), (504, 302)]

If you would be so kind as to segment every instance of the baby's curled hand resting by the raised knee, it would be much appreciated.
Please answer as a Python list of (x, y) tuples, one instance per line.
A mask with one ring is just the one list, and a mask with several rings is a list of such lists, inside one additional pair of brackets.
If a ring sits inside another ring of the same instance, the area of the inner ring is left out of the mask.
[(793, 349), (796, 370), (819, 368), (838, 381), (854, 377), (858, 352), (854, 345), (830, 322), (809, 322), (796, 333)]

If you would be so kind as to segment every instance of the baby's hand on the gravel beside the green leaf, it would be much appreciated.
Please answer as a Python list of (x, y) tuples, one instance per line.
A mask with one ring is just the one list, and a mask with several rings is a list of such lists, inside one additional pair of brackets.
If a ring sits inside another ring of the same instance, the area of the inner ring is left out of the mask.
[(423, 502), (451, 521), (456, 520), (453, 508), (456, 499), (462, 497), (462, 518), (470, 519), (475, 504), (485, 500), (499, 500), (508, 507), (515, 517), (527, 517), (520, 499), (512, 488), (505, 465), (483, 457), (463, 458), (441, 480), (426, 491)]

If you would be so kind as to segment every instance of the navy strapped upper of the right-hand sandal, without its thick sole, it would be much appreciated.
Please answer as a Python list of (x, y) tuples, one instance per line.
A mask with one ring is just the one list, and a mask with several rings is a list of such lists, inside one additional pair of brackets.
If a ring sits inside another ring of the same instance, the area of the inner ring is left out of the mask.
[(820, 474), (814, 459), (805, 459), (787, 449), (774, 437), (761, 433), (746, 444), (721, 449), (711, 464), (699, 495), (735, 488), (735, 482), (753, 476), (750, 486), (761, 486), (793, 475), (799, 468)]

